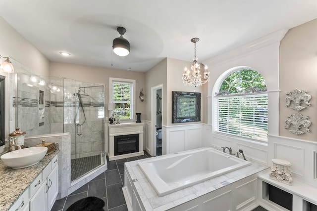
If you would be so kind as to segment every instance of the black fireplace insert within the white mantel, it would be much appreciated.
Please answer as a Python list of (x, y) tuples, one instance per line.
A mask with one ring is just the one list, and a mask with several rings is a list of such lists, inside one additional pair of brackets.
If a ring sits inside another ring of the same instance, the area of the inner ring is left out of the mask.
[(114, 155), (139, 152), (139, 134), (114, 136)]

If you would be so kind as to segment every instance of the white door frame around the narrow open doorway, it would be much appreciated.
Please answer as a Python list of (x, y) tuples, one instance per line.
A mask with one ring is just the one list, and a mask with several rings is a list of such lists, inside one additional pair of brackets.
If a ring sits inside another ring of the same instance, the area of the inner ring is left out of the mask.
[[(163, 97), (163, 84), (159, 84), (156, 86), (151, 87), (151, 156), (157, 156), (157, 90), (161, 89), (162, 96), (161, 96), (161, 116), (162, 116), (162, 123), (163, 123), (163, 114), (164, 114), (164, 97)], [(163, 136), (162, 136), (162, 152), (163, 152)]]

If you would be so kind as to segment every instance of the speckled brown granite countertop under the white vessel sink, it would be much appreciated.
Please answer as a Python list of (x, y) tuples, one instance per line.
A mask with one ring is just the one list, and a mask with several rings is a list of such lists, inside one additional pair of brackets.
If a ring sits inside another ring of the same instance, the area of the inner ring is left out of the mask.
[(11, 169), (0, 161), (0, 211), (9, 210), (58, 151), (46, 155), (38, 164), (24, 169)]

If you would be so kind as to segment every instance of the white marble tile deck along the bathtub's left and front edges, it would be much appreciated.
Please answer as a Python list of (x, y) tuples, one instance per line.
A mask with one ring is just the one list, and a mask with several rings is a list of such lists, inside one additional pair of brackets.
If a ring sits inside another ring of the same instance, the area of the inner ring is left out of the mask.
[[(156, 158), (157, 157), (148, 159)], [(159, 197), (143, 171), (138, 166), (139, 162), (140, 161), (127, 162), (125, 163), (125, 167), (128, 170), (133, 184), (141, 198), (143, 206), (147, 211), (165, 211), (174, 208), (185, 202), (198, 198), (204, 194), (210, 193), (211, 191), (219, 189), (225, 185), (229, 185), (247, 176), (253, 175), (264, 169), (269, 168), (268, 166), (264, 166), (255, 161), (250, 161), (251, 165), (247, 167), (225, 173), (218, 177)]]

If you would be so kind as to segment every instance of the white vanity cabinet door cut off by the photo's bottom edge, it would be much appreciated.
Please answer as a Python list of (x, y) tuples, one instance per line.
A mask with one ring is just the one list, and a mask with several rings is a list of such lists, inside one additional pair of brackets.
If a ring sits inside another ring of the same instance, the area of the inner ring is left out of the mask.
[(44, 182), (30, 199), (30, 211), (47, 211), (45, 201), (46, 183)]

